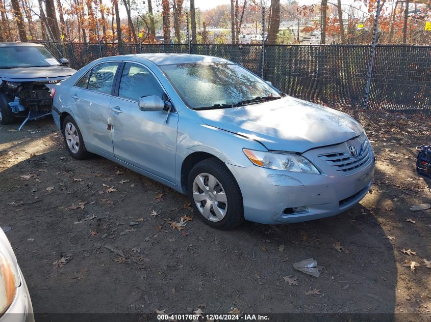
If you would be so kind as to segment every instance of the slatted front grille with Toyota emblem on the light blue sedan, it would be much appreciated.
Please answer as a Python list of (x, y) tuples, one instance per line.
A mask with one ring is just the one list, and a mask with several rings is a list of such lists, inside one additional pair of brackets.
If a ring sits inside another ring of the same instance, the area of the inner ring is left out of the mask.
[(329, 166), (340, 171), (342, 175), (361, 170), (372, 158), (371, 145), (366, 139), (362, 144), (360, 153), (356, 157), (350, 156), (348, 151), (320, 154), (319, 158)]

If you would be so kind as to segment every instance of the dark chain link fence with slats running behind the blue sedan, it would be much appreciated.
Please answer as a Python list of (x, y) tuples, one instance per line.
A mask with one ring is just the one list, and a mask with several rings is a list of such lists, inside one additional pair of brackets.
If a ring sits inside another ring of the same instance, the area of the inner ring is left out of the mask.
[[(248, 44), (44, 44), (75, 69), (118, 54), (190, 50), (218, 56), (288, 95), (352, 111), (364, 104), (370, 55), (370, 45), (265, 45), (263, 58), (262, 45)], [(431, 46), (377, 45), (372, 67), (368, 110), (431, 114)]]

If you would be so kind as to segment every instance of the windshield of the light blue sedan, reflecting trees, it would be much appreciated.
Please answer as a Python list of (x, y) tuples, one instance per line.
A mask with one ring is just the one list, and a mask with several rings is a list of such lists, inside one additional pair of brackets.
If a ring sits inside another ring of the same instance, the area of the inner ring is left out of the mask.
[(248, 105), (283, 95), (233, 63), (173, 64), (160, 68), (184, 103), (192, 109)]

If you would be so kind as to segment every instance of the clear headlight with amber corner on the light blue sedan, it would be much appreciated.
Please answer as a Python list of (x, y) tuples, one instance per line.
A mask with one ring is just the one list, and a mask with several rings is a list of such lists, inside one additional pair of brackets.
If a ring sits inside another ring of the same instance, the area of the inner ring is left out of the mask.
[(242, 149), (255, 165), (275, 170), (287, 170), (320, 174), (320, 171), (306, 158), (294, 153), (274, 153)]

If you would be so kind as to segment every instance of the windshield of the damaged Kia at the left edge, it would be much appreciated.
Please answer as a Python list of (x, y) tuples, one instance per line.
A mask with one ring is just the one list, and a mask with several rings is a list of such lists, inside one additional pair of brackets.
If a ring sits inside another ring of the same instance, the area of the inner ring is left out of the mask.
[(61, 65), (57, 58), (42, 46), (0, 47), (0, 57), (0, 69)]

